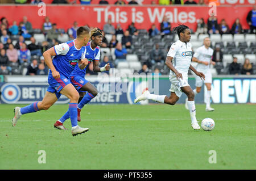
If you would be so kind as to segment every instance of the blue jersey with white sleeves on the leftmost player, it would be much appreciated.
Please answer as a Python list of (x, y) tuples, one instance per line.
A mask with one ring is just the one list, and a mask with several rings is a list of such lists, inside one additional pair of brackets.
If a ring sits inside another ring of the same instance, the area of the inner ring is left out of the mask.
[[(72, 73), (79, 60), (85, 58), (86, 49), (81, 47), (76, 49), (75, 40), (67, 41), (54, 46), (56, 56), (53, 58), (52, 63), (60, 74), (69, 78), (69, 74)], [(49, 70), (49, 75), (52, 75), (52, 71)]]

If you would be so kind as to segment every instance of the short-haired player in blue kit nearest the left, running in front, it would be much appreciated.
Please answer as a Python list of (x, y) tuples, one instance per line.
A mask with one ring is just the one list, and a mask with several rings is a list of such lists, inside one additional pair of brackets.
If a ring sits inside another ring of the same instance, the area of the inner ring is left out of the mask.
[[(86, 48), (84, 47), (90, 39), (90, 29), (88, 27), (80, 27), (77, 30), (75, 40), (67, 41), (55, 45), (43, 53), (44, 60), (48, 65), (48, 83), (46, 95), (42, 102), (35, 102), (26, 107), (15, 107), (15, 116), (12, 120), (13, 127), (16, 125), (21, 115), (40, 110), (48, 110), (60, 97), (61, 94), (70, 99), (68, 112), (71, 117), (72, 135), (84, 133), (88, 128), (81, 128), (77, 125), (77, 102), (79, 93), (69, 80), (75, 66), (86, 66), (88, 60), (85, 58)], [(51, 56), (55, 56), (52, 60)]]

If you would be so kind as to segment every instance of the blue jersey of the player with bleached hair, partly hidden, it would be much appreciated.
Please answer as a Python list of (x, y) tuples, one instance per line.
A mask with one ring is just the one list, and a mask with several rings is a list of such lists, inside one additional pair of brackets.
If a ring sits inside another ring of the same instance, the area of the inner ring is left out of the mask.
[[(96, 61), (100, 60), (100, 56), (101, 56), (100, 48), (96, 47), (95, 49), (92, 49), (92, 47), (90, 47), (90, 41), (88, 42), (85, 48), (86, 48), (85, 58), (88, 59), (88, 65), (94, 60)], [(77, 64), (70, 76), (76, 77), (77, 75), (79, 75), (80, 77), (85, 77), (85, 72), (87, 67), (88, 66), (86, 66), (84, 69), (81, 70)]]

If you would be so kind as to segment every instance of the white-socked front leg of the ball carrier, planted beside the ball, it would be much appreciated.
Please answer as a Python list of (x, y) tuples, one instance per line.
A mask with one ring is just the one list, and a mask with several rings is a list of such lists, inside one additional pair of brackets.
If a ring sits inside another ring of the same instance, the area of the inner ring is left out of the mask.
[(191, 117), (191, 126), (193, 129), (200, 129), (196, 120), (195, 93), (190, 86), (180, 87), (180, 89), (188, 96), (188, 110)]

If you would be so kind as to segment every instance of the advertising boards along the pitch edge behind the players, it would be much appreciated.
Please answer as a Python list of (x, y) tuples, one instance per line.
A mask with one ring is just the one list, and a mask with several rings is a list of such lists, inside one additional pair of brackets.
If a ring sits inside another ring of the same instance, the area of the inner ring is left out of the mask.
[[(35, 101), (41, 101), (48, 87), (47, 77), (39, 76), (36, 79), (40, 79), (40, 81), (32, 82), (29, 77), (15, 78), (15, 76), (10, 76), (5, 78), (6, 82), (0, 83), (0, 103), (30, 104)], [(125, 81), (118, 78), (110, 82), (99, 82), (98, 79), (98, 77), (88, 77), (88, 80), (99, 91), (99, 94), (92, 99), (90, 104), (133, 104), (133, 100), (141, 94), (143, 89), (148, 87), (147, 82), (152, 83), (149, 90), (154, 90), (155, 94), (170, 95), (171, 83), (166, 76), (161, 76), (155, 80), (134, 77)], [(26, 80), (27, 82), (25, 82)], [(188, 82), (192, 89), (195, 89), (195, 78), (190, 77)], [(195, 102), (197, 104), (204, 103), (205, 92), (206, 89), (203, 87), (196, 96)], [(214, 77), (211, 94), (212, 103), (214, 104), (256, 103), (256, 76)], [(177, 103), (183, 104), (185, 98), (186, 96), (183, 94)], [(57, 103), (66, 104), (68, 102), (69, 100), (65, 96), (61, 96)], [(155, 102), (144, 101), (141, 103)]]

